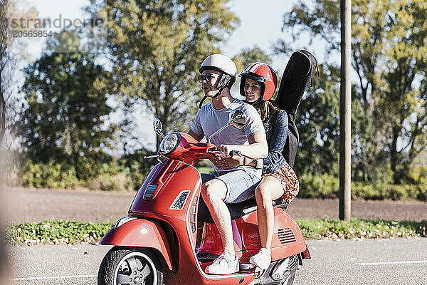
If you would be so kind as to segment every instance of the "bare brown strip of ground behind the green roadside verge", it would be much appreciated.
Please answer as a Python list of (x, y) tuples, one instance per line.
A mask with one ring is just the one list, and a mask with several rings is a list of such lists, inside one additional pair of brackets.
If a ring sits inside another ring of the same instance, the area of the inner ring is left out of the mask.
[[(127, 215), (135, 193), (14, 187), (2, 193), (1, 204), (6, 223), (44, 220), (115, 222)], [(288, 212), (295, 219), (336, 219), (338, 209), (338, 199), (297, 197)], [(427, 220), (427, 203), (355, 200), (352, 201), (352, 217), (421, 222)]]

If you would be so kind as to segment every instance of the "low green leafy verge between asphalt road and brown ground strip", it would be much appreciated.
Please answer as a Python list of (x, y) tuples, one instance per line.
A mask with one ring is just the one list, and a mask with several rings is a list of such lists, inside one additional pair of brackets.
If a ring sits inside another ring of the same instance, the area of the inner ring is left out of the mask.
[[(113, 222), (40, 222), (11, 224), (9, 244), (93, 244), (99, 242)], [(427, 221), (396, 222), (352, 219), (297, 219), (305, 239), (381, 239), (427, 237)]]

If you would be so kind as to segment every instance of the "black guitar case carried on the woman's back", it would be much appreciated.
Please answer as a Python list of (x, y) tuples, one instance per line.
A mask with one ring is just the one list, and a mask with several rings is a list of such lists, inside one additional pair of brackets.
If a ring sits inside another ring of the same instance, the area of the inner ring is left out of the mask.
[[(283, 157), (288, 164), (293, 167), (297, 155), (300, 134), (295, 125), (295, 115), (300, 105), (302, 96), (308, 83), (313, 82), (313, 75), (317, 68), (315, 56), (305, 50), (295, 51), (290, 56), (285, 71), (283, 71), (282, 81), (274, 103), (288, 113), (288, 138), (286, 139)], [(317, 68), (317, 74), (319, 69)]]

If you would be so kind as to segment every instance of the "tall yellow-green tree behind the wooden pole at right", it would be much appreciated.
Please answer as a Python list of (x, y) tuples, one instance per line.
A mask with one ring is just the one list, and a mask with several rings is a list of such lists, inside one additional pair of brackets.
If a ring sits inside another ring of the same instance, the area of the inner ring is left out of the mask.
[[(384, 166), (398, 183), (427, 147), (426, 14), (423, 0), (352, 2), (352, 66), (359, 80), (354, 100), (369, 123), (354, 136), (359, 147), (353, 157), (357, 168), (368, 170), (368, 179), (374, 173), (369, 170)], [(312, 40), (323, 38), (327, 57), (339, 49), (337, 1), (298, 4), (283, 19), (295, 38), (303, 31)]]

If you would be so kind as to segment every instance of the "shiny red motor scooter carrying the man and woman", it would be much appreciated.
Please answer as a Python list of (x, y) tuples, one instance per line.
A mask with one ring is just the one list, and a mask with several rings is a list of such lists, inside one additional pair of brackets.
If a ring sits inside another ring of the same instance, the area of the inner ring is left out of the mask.
[[(233, 110), (228, 124), (210, 138), (229, 125), (243, 128), (245, 123), (243, 112)], [(154, 130), (163, 137), (159, 155), (168, 160), (153, 167), (135, 195), (129, 216), (119, 219), (100, 241), (115, 247), (102, 260), (98, 284), (292, 284), (298, 265), (310, 253), (285, 207), (274, 208), (269, 268), (260, 270), (249, 264), (260, 249), (255, 199), (228, 205), (241, 270), (227, 275), (204, 272), (221, 254), (222, 244), (213, 223), (205, 224), (201, 244), (196, 244), (202, 181), (194, 165), (216, 155), (216, 146), (209, 143), (210, 138), (206, 143), (197, 142), (186, 133), (164, 136), (157, 118)]]

